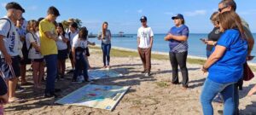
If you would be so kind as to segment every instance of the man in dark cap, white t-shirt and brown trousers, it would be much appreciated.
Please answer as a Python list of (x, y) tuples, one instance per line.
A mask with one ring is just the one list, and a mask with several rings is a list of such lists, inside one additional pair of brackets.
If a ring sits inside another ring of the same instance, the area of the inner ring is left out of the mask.
[(150, 76), (151, 70), (151, 49), (153, 45), (154, 33), (147, 25), (147, 17), (141, 17), (142, 26), (137, 31), (137, 49), (138, 53), (143, 61), (143, 72), (145, 76)]

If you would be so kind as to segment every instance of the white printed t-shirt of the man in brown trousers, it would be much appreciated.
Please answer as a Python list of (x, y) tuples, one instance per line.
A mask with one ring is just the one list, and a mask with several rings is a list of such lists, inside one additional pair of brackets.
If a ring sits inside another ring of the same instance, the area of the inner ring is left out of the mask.
[(148, 49), (150, 45), (150, 37), (153, 37), (154, 33), (151, 27), (140, 27), (137, 30), (137, 37), (140, 39), (139, 48)]

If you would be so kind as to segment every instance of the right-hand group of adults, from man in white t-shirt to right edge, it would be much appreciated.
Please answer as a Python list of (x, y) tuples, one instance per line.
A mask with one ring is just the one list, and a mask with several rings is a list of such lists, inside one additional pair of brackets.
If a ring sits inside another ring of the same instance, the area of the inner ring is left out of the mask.
[[(188, 55), (189, 27), (185, 26), (183, 14), (172, 17), (174, 25), (164, 38), (169, 42), (169, 56), (172, 65), (172, 84), (178, 84), (178, 69), (183, 76), (183, 89), (189, 88), (189, 76), (186, 66)], [(241, 89), (244, 66), (247, 60), (253, 60), (253, 35), (247, 22), (236, 14), (236, 3), (233, 0), (222, 0), (218, 4), (218, 12), (210, 18), (214, 26), (207, 39), (201, 39), (207, 44), (207, 61), (202, 66), (202, 72), (209, 72), (202, 87), (201, 106), (204, 114), (213, 114), (212, 100), (216, 95), (224, 102), (224, 115), (239, 114), (239, 94)], [(150, 52), (153, 44), (153, 32), (147, 26), (147, 18), (141, 18), (142, 27), (138, 29), (138, 52), (143, 61), (145, 76), (150, 74)], [(256, 86), (248, 95), (256, 92)]]

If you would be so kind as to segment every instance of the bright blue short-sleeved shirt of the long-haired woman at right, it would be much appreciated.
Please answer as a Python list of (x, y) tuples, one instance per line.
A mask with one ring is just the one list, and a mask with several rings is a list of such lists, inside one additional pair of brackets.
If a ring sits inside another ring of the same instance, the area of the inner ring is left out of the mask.
[[(217, 45), (226, 48), (224, 55), (209, 68), (209, 75), (216, 83), (235, 83), (243, 72), (247, 57), (247, 41), (235, 29), (226, 30)], [(214, 51), (215, 48), (212, 50)]]

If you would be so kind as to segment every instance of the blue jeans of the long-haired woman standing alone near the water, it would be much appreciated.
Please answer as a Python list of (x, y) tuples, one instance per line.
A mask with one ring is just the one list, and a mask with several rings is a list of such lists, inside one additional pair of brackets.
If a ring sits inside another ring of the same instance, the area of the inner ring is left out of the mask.
[[(104, 43), (102, 43), (102, 52), (103, 52), (103, 63), (104, 63), (104, 66), (109, 66), (110, 49), (111, 49), (111, 44), (104, 44)], [(106, 64), (106, 60), (107, 60), (107, 64)]]

